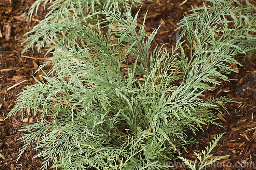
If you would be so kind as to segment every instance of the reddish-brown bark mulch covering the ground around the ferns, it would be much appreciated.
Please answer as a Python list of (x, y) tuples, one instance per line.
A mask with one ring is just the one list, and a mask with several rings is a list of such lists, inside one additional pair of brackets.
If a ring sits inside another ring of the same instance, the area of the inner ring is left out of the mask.
[[(33, 16), (31, 22), (26, 21), (28, 8), (33, 2), (34, 0), (0, 1), (0, 169), (3, 170), (37, 170), (43, 162), (40, 158), (32, 159), (39, 152), (32, 148), (25, 151), (25, 154), (16, 162), (19, 150), (24, 145), (24, 142), (17, 140), (24, 135), (24, 132), (18, 130), (36, 121), (37, 117), (28, 114), (22, 117), (22, 114), (16, 114), (3, 121), (15, 105), (19, 92), (26, 85), (35, 83), (32, 76), (40, 78), (39, 74), (42, 72), (33, 73), (47, 57), (43, 56), (44, 50), (40, 54), (33, 52), (31, 48), (25, 54), (21, 54), (23, 49), (21, 43), (26, 38), (23, 35), (38, 24), (46, 14), (41, 5), (38, 15)], [(167, 44), (166, 47), (170, 50), (179, 35), (179, 32), (174, 31), (177, 23), (191, 9), (191, 5), (197, 7), (202, 5), (202, 2), (201, 0), (153, 0), (146, 1), (142, 5), (139, 21), (143, 19), (148, 9), (146, 31), (152, 32), (162, 23), (153, 46)], [(241, 58), (237, 58), (240, 63)], [(242, 64), (244, 66), (239, 69), (239, 73), (232, 73), (229, 76), (230, 82), (223, 82), (221, 86), (216, 86), (215, 91), (205, 92), (207, 97), (229, 96), (241, 102), (242, 105), (228, 104), (229, 114), (224, 111), (225, 117), (216, 113), (221, 118), (219, 123), (223, 127), (209, 125), (208, 129), (207, 126), (204, 127), (204, 133), (199, 132), (197, 136), (191, 135), (200, 144), (188, 146), (188, 153), (183, 152), (183, 156), (187, 159), (195, 161), (194, 152), (201, 153), (201, 150), (205, 150), (205, 147), (209, 146), (209, 141), (217, 134), (226, 132), (212, 152), (212, 158), (230, 155), (222, 159), (218, 169), (256, 168), (256, 114), (254, 113), (256, 112), (256, 57), (247, 58)], [(13, 85), (16, 86), (12, 87)], [(184, 169), (182, 166), (178, 168)]]

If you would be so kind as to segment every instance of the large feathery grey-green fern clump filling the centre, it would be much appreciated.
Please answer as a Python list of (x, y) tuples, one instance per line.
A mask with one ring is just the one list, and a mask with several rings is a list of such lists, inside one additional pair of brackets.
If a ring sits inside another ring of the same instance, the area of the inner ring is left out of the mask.
[[(232, 0), (211, 2), (193, 9), (194, 19), (181, 20), (189, 54), (184, 42), (170, 53), (164, 46), (152, 49), (158, 28), (146, 36), (145, 18), (138, 28), (138, 13), (118, 6), (93, 14), (105, 16), (93, 26), (67, 20), (38, 28), (35, 40), (61, 34), (52, 59), (40, 67), (52, 65), (44, 82), (27, 86), (9, 114), (29, 109), (41, 115), (22, 129), (28, 132), (22, 153), (35, 142), (43, 169), (170, 168), (166, 162), (195, 142), (186, 132), (219, 125), (213, 109), (221, 112), (231, 101), (203, 98), (203, 91), (228, 81), (229, 64), (240, 65), (233, 56), (254, 49), (238, 42), (248, 38), (240, 22), (248, 9), (233, 7)], [(255, 20), (248, 24), (255, 31)], [(28, 38), (28, 46), (34, 42)], [(127, 58), (134, 63), (127, 65)]]

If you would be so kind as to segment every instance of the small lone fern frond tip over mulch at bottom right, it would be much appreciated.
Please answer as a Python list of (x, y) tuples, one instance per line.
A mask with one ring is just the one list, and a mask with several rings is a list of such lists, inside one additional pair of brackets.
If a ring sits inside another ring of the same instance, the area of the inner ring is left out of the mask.
[(186, 158), (183, 158), (181, 156), (179, 156), (179, 158), (188, 166), (188, 168), (190, 168), (192, 170), (197, 169), (196, 165), (199, 165), (198, 170), (203, 169), (207, 166), (211, 166), (211, 164), (215, 163), (217, 160), (221, 160), (222, 158), (225, 158), (226, 156), (229, 156), (229, 155), (226, 155), (226, 156), (216, 157), (214, 159), (211, 159), (209, 162), (207, 162), (207, 159), (209, 159), (212, 156), (212, 154), (210, 154), (210, 152), (213, 150), (214, 147), (217, 146), (217, 143), (218, 143), (219, 139), (221, 139), (221, 137), (223, 135), (224, 135), (224, 133), (214, 137), (214, 140), (212, 140), (212, 142), (210, 142), (210, 149), (208, 147), (205, 148), (207, 153), (205, 153), (205, 151), (202, 151), (203, 159), (198, 153), (194, 152), (197, 156), (197, 159), (200, 161), (198, 164), (193, 164), (192, 165), (192, 163), (190, 161), (188, 161)]

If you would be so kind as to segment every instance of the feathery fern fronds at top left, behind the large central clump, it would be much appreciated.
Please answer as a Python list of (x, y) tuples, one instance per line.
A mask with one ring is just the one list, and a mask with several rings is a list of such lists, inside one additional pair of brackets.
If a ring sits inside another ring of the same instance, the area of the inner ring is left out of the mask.
[[(117, 6), (121, 6), (122, 10), (130, 10), (133, 7), (137, 7), (139, 3), (144, 0), (37, 0), (29, 8), (28, 17), (31, 20), (33, 12), (37, 15), (38, 8), (40, 5), (47, 3), (51, 5), (47, 8), (49, 12), (46, 14), (45, 19), (40, 21), (39, 24), (34, 26), (28, 33), (29, 37), (23, 42), (27, 45), (25, 46), (23, 53), (34, 43), (37, 43), (38, 51), (41, 48), (47, 46), (49, 51), (56, 48), (56, 46), (61, 46), (66, 42), (61, 39), (62, 32), (59, 34), (42, 34), (42, 28), (46, 25), (52, 25), (54, 23), (62, 23), (63, 21), (72, 21), (77, 24), (88, 24), (85, 18), (91, 14), (91, 12), (100, 10), (111, 10)], [(89, 23), (93, 22), (92, 18), (89, 19)], [(44, 32), (43, 32), (44, 33)], [(39, 40), (39, 37), (43, 39)], [(62, 40), (62, 41), (61, 41)], [(54, 42), (55, 45), (52, 43)], [(56, 45), (57, 44), (57, 45)], [(51, 46), (50, 46), (51, 45)]]

